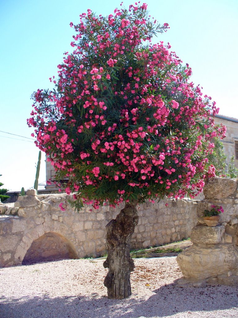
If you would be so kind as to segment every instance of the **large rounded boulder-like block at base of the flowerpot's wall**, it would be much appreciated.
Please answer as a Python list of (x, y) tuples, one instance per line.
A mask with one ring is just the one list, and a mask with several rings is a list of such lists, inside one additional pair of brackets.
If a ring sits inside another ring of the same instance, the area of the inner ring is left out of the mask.
[(237, 271), (238, 248), (232, 244), (221, 244), (216, 248), (193, 245), (180, 253), (176, 260), (185, 278), (203, 280)]

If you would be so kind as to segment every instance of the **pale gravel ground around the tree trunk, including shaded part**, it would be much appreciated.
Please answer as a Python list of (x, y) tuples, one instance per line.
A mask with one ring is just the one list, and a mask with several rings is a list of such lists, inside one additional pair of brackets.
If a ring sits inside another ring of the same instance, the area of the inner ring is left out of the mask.
[(69, 259), (0, 268), (1, 318), (238, 317), (238, 287), (178, 287), (175, 257), (135, 259), (132, 295), (107, 298), (102, 261)]

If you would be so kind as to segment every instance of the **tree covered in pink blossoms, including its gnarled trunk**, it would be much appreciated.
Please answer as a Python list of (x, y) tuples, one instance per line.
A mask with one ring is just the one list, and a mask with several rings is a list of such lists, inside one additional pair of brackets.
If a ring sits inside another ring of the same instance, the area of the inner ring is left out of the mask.
[[(138, 222), (136, 205), (165, 195), (182, 198), (202, 190), (214, 125), (210, 98), (189, 82), (191, 69), (170, 46), (151, 38), (168, 24), (148, 16), (147, 5), (96, 16), (88, 10), (58, 65), (55, 89), (37, 90), (28, 124), (36, 145), (68, 179), (72, 205), (125, 207), (107, 227), (104, 280), (109, 298), (131, 294), (134, 268), (129, 243)], [(63, 209), (63, 207), (62, 207)]]

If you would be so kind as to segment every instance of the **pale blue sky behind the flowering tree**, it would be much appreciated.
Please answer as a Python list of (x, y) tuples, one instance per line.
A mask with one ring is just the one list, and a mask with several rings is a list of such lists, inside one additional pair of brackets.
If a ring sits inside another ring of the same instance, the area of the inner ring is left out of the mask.
[[(171, 50), (192, 67), (191, 80), (217, 102), (220, 114), (238, 118), (238, 1), (145, 2), (153, 17), (170, 26), (154, 42), (169, 42)], [(123, 2), (126, 8), (131, 3)], [(57, 75), (74, 34), (69, 23), (76, 24), (88, 8), (107, 16), (119, 6), (120, 1), (107, 0), (0, 2), (0, 182), (4, 187), (20, 191), (34, 184), (39, 150), (33, 140), (16, 135), (31, 138), (26, 124), (30, 96), (37, 88), (48, 88), (49, 77)], [(44, 159), (42, 154), (39, 182), (46, 180)]]

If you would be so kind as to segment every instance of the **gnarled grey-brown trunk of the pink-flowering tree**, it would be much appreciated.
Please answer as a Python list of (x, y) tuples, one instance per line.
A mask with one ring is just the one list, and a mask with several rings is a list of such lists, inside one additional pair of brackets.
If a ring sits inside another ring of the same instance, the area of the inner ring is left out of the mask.
[(108, 298), (124, 299), (131, 295), (130, 272), (135, 268), (130, 257), (130, 240), (138, 223), (136, 202), (126, 203), (124, 209), (107, 225), (108, 257), (103, 262), (109, 268), (104, 285)]

